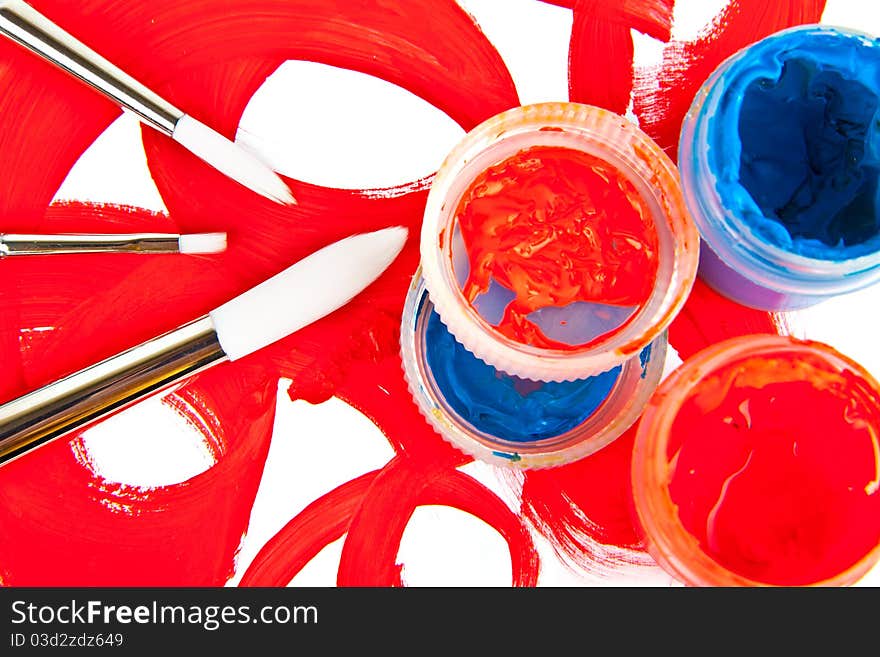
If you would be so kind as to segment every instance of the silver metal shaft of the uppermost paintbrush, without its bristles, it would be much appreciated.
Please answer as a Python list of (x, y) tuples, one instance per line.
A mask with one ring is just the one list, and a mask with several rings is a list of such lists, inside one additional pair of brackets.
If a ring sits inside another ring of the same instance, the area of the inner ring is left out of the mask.
[(169, 137), (184, 115), (21, 0), (0, 1), (0, 32), (131, 110)]

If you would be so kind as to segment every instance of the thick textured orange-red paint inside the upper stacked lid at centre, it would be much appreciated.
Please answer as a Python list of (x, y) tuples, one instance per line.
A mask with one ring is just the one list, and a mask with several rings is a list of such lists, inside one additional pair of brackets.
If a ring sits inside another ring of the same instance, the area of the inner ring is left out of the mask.
[(470, 264), (462, 294), (473, 304), (493, 279), (513, 292), (496, 328), (520, 344), (581, 349), (551, 340), (528, 316), (575, 302), (640, 308), (653, 290), (650, 209), (624, 174), (588, 153), (520, 151), (474, 179), (455, 219)]

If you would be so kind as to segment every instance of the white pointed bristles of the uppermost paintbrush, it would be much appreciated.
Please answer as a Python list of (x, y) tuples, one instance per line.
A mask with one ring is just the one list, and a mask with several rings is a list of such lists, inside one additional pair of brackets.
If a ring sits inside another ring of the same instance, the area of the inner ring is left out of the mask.
[(296, 199), (272, 169), (219, 132), (186, 114), (172, 134), (174, 141), (257, 194), (284, 205)]

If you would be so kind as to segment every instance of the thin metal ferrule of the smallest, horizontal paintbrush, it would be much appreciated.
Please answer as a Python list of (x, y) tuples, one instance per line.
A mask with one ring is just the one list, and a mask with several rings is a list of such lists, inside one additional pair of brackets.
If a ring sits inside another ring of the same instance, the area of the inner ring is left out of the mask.
[(180, 235), (0, 235), (0, 257), (62, 253), (177, 253)]

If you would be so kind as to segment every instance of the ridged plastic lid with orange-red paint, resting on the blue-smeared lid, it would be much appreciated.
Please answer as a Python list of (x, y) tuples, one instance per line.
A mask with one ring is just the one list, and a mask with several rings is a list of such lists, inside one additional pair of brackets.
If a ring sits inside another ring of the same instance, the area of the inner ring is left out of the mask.
[(440, 167), (421, 263), (449, 331), (498, 370), (542, 381), (621, 366), (696, 277), (678, 173), (622, 116), (576, 103), (503, 112)]

